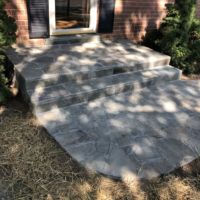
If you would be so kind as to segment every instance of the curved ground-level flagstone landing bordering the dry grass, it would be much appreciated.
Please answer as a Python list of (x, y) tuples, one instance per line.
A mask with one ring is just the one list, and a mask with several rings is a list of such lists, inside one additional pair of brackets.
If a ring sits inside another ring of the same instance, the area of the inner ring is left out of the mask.
[(198, 158), (200, 81), (171, 81), (140, 93), (55, 106), (37, 118), (88, 169), (150, 179)]

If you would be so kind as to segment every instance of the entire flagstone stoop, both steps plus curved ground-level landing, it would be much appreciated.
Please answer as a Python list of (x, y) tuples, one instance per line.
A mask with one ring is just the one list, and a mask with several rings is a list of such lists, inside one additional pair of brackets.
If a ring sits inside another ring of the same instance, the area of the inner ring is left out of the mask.
[(126, 40), (7, 54), (38, 121), (86, 168), (150, 179), (197, 157), (200, 86), (177, 81), (169, 56)]

